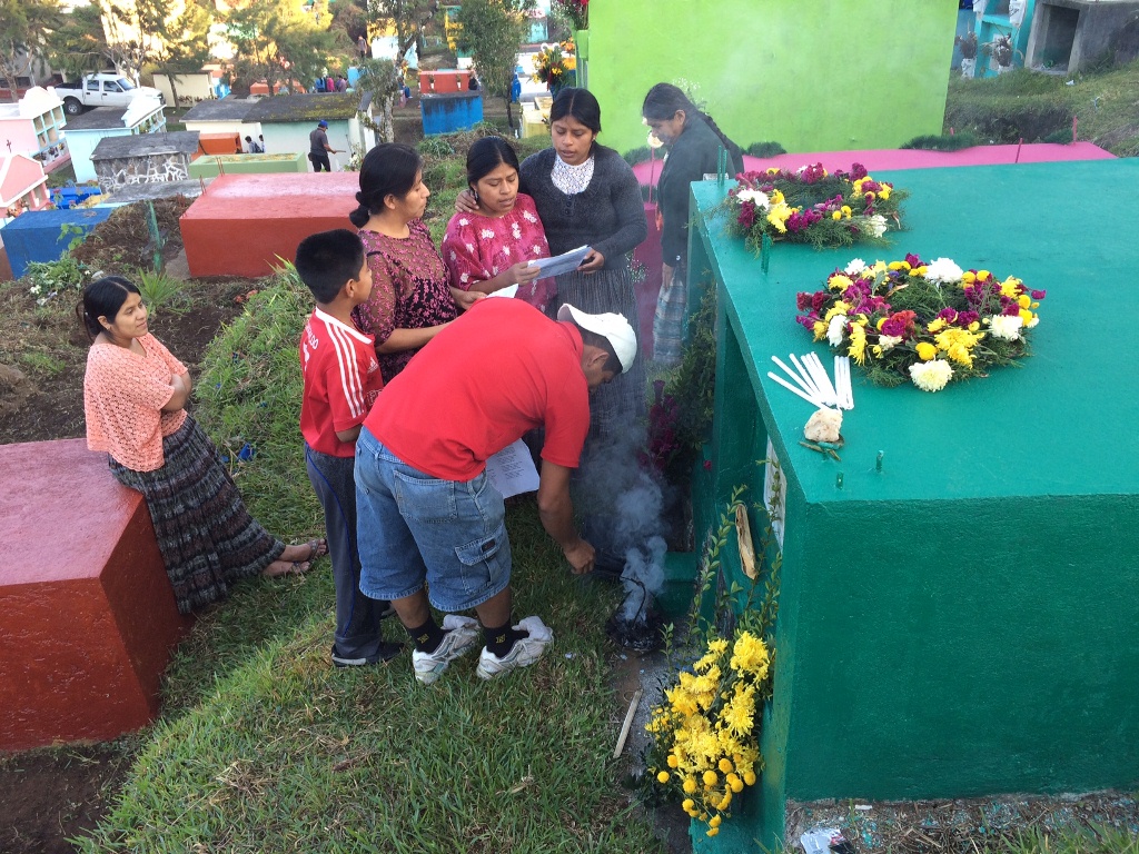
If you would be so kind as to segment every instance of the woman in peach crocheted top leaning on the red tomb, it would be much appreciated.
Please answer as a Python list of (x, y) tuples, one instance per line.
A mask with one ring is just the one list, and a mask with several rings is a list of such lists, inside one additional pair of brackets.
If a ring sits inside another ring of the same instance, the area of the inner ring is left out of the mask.
[(147, 327), (138, 288), (108, 276), (76, 306), (91, 350), (83, 378), (87, 444), (146, 498), (182, 614), (224, 599), (253, 575), (304, 573), (323, 540), (286, 545), (245, 509), (229, 470), (186, 412), (190, 375)]

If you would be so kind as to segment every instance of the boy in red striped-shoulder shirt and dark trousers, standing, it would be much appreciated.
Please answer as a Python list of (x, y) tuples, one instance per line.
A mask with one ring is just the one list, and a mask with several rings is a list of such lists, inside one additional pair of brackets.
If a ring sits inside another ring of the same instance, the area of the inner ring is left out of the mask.
[(301, 433), (309, 479), (325, 509), (336, 583), (333, 664), (362, 667), (386, 662), (402, 649), (380, 632), (380, 619), (392, 613), (388, 602), (360, 592), (355, 441), (384, 379), (376, 340), (357, 329), (352, 309), (371, 294), (371, 270), (360, 238), (346, 229), (306, 237), (296, 249), (295, 265), (317, 301), (301, 334)]

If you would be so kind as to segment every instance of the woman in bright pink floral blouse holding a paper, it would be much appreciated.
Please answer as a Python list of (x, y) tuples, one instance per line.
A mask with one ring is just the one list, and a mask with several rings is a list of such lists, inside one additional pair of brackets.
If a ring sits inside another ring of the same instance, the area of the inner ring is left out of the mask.
[(451, 285), (493, 294), (517, 285), (515, 294), (546, 311), (557, 291), (552, 279), (539, 279), (533, 258), (550, 254), (534, 200), (518, 192), (518, 155), (501, 137), (484, 137), (467, 153), (467, 184), (476, 213), (457, 213), (443, 238), (443, 263)]

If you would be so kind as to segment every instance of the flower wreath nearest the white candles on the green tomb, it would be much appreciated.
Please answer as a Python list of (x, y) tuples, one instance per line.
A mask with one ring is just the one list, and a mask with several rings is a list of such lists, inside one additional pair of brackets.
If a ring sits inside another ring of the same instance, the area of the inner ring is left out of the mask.
[(796, 321), (862, 367), (872, 383), (907, 379), (926, 392), (988, 376), (1029, 355), (1043, 290), (1009, 276), (962, 270), (949, 258), (867, 265), (854, 258), (827, 287), (798, 294)]

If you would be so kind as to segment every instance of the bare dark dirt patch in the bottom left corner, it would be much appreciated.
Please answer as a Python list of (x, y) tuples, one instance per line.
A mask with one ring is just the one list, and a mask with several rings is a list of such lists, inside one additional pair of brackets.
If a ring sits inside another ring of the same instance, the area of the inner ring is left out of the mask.
[(131, 755), (116, 742), (0, 758), (0, 851), (72, 854), (67, 840), (107, 812)]

